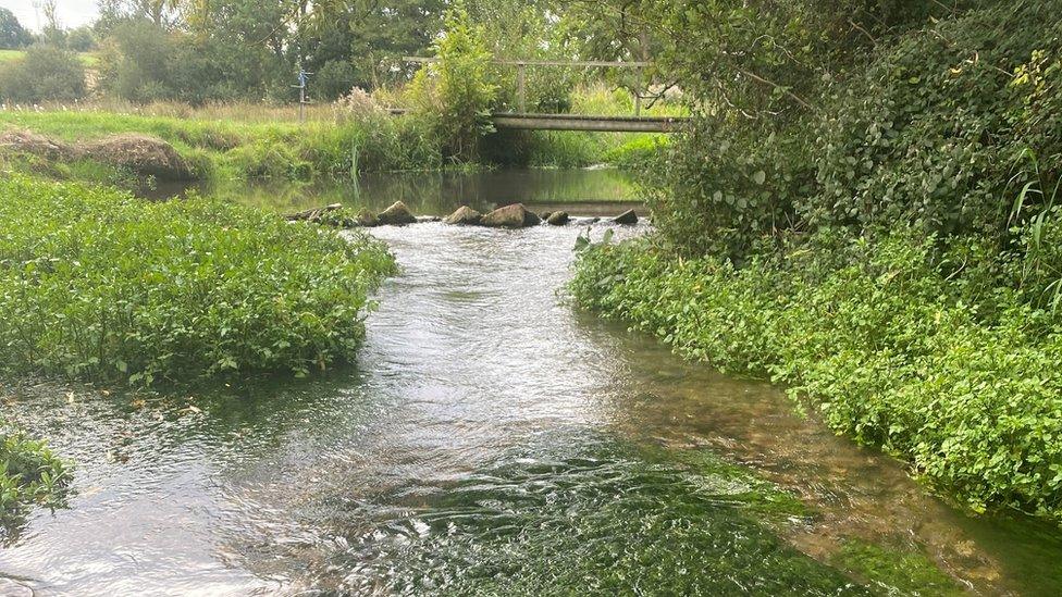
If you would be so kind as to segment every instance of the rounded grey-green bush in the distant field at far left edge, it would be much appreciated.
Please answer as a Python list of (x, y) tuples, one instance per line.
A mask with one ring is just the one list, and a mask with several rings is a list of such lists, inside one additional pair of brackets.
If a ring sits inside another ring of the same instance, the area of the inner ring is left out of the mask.
[(85, 67), (77, 55), (35, 46), (20, 60), (0, 66), (0, 99), (11, 103), (73, 101), (85, 97)]

